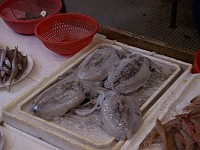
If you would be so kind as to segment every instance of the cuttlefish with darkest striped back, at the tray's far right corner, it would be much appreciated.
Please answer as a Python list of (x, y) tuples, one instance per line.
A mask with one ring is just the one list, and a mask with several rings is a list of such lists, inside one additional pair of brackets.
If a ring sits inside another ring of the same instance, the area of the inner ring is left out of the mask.
[(116, 68), (112, 68), (105, 87), (119, 93), (136, 91), (150, 78), (151, 64), (149, 58), (132, 54), (129, 58), (122, 59)]

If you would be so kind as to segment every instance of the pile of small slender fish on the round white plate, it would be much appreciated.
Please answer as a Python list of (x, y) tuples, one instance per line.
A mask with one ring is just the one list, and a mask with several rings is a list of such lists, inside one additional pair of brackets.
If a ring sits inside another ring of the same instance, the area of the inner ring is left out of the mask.
[(0, 49), (0, 85), (6, 86), (10, 90), (12, 82), (17, 81), (26, 70), (27, 56), (14, 49)]

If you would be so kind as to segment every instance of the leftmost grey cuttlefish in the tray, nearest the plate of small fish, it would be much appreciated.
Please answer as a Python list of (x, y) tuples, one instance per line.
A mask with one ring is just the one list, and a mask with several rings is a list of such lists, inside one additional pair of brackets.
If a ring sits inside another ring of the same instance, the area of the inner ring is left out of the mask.
[(66, 78), (39, 94), (31, 107), (36, 116), (46, 120), (63, 116), (85, 99), (77, 82)]

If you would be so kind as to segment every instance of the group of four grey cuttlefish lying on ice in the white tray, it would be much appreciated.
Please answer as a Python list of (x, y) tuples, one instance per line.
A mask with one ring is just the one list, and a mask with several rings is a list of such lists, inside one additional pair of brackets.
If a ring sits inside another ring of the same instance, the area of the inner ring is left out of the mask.
[(130, 139), (143, 123), (139, 105), (129, 94), (150, 78), (155, 64), (139, 53), (101, 47), (88, 55), (33, 101), (31, 111), (45, 120), (73, 112), (87, 116), (100, 111), (106, 132), (116, 140)]

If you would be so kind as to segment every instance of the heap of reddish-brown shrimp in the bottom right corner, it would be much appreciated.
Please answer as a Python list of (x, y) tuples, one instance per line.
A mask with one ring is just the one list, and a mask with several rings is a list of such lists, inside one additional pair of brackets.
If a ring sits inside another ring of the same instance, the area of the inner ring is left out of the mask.
[(196, 96), (183, 109), (183, 113), (162, 124), (156, 120), (156, 127), (147, 136), (141, 149), (162, 143), (163, 149), (200, 149), (200, 96)]

